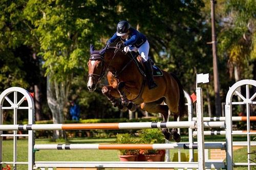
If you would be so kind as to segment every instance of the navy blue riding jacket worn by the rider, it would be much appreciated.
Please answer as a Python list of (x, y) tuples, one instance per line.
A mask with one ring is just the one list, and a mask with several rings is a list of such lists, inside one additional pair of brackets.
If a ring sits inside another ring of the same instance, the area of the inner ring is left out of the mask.
[[(137, 48), (139, 48), (144, 42), (146, 42), (146, 37), (140, 33), (139, 31), (137, 31), (134, 28), (130, 28), (129, 29), (130, 33), (128, 36), (128, 39), (122, 39), (122, 41), (124, 41), (124, 46), (136, 46)], [(113, 43), (115, 42), (115, 40), (117, 40), (117, 38), (119, 38), (119, 36), (116, 35), (116, 33), (109, 39), (108, 43)]]

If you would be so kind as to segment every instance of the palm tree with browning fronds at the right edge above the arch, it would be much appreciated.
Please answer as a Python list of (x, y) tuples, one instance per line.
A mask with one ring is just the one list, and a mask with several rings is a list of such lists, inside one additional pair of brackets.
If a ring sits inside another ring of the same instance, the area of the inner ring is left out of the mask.
[(250, 77), (252, 70), (248, 71), (248, 66), (256, 59), (255, 10), (253, 0), (230, 0), (225, 6), (220, 48), (228, 56), (229, 74), (236, 81)]

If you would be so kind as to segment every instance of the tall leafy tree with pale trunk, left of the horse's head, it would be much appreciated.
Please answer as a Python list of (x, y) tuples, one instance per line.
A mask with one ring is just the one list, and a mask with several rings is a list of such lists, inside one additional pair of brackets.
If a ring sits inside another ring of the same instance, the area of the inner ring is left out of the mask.
[(108, 21), (103, 11), (104, 2), (98, 1), (31, 0), (26, 6), (25, 15), (40, 44), (38, 55), (45, 61), (47, 98), (55, 124), (63, 122), (72, 80), (87, 69), (90, 43), (101, 43), (105, 27), (101, 22)]

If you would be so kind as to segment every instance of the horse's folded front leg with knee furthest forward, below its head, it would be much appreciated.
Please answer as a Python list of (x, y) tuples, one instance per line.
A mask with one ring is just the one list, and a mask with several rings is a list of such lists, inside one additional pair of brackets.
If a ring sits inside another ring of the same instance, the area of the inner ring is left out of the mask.
[(104, 86), (101, 92), (108, 98), (114, 107), (118, 107), (121, 111), (126, 111), (127, 107), (121, 105), (120, 101), (116, 98), (120, 98), (119, 92), (113, 86)]

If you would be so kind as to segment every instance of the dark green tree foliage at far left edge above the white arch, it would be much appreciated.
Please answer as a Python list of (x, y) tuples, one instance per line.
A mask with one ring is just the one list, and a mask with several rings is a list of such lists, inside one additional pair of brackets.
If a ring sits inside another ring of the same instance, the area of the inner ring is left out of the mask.
[(0, 91), (11, 86), (28, 87), (26, 72), (22, 69), (24, 61), (15, 56), (26, 33), (20, 10), (25, 4), (24, 1), (0, 2)]

